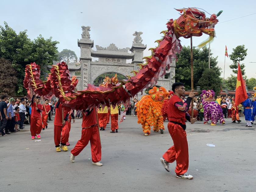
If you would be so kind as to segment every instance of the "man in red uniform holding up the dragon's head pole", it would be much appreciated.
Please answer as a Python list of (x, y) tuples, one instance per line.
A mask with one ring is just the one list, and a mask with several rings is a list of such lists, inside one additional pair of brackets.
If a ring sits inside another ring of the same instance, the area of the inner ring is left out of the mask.
[(185, 89), (183, 83), (172, 84), (174, 96), (169, 100), (168, 108), (168, 130), (173, 140), (173, 146), (165, 152), (160, 158), (164, 168), (169, 172), (169, 163), (176, 160), (176, 177), (182, 179), (193, 179), (192, 175), (187, 173), (188, 169), (188, 144), (186, 134), (186, 120), (192, 124), (196, 118), (190, 117), (187, 112), (190, 106), (191, 99), (195, 96), (194, 90), (189, 93), (189, 96), (184, 103), (181, 96), (184, 96)]

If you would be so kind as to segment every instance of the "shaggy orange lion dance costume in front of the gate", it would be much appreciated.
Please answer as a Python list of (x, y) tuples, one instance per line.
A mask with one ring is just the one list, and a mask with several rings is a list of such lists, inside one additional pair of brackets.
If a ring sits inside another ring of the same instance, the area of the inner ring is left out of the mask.
[(142, 125), (143, 132), (145, 136), (150, 135), (151, 126), (153, 130), (158, 132), (160, 129), (161, 133), (163, 130), (163, 117), (162, 117), (162, 106), (165, 98), (169, 96), (169, 92), (166, 91), (164, 87), (153, 87), (153, 89), (148, 91), (149, 95), (145, 95), (137, 103), (137, 116), (138, 123)]

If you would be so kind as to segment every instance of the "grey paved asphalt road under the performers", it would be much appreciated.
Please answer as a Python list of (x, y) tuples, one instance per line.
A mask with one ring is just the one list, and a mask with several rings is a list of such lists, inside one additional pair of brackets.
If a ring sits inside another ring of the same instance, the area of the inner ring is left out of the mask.
[(175, 162), (166, 172), (159, 161), (173, 144), (168, 130), (145, 137), (134, 116), (119, 124), (118, 133), (110, 133), (110, 124), (100, 131), (101, 167), (92, 165), (90, 144), (75, 163), (69, 161), (81, 136), (82, 119), (72, 123), (69, 151), (58, 153), (53, 121), (38, 142), (31, 140), (26, 125), (18, 133), (1, 136), (0, 191), (255, 191), (256, 125), (246, 128), (244, 117), (240, 124), (226, 120), (216, 126), (187, 123), (188, 173), (193, 180), (176, 178)]

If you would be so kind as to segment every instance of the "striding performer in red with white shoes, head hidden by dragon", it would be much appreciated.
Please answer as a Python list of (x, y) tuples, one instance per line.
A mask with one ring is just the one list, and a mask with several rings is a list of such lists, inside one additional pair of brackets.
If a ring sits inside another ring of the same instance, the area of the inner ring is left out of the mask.
[(101, 160), (101, 142), (97, 126), (95, 109), (83, 111), (82, 136), (77, 141), (76, 146), (71, 150), (70, 161), (75, 162), (75, 156), (86, 147), (90, 140), (91, 159), (93, 165), (102, 166)]

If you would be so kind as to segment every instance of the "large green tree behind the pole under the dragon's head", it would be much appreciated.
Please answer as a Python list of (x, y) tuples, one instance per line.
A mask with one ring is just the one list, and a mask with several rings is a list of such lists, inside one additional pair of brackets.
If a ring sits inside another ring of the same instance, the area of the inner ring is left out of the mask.
[[(210, 54), (212, 55), (212, 53)], [(191, 86), (191, 65), (190, 65), (190, 46), (184, 46), (177, 54), (178, 61), (176, 62), (175, 80), (185, 84), (185, 89), (190, 89)], [(208, 69), (209, 49), (204, 46), (202, 49), (193, 47), (193, 71), (194, 71), (194, 87), (201, 86), (198, 81), (205, 69)], [(211, 69), (218, 76), (221, 75), (221, 68), (217, 66), (218, 57), (210, 57)]]

